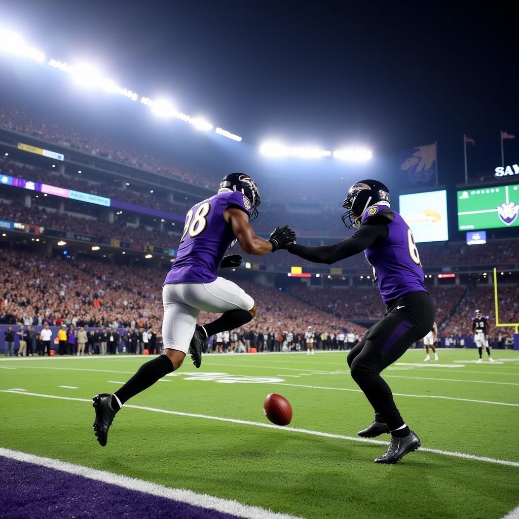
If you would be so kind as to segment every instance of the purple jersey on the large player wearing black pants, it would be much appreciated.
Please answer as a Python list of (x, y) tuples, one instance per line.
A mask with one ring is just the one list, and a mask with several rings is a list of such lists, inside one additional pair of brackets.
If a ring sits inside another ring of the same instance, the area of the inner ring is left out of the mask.
[(373, 275), (384, 303), (407, 292), (427, 292), (415, 240), (402, 216), (379, 202), (364, 211), (361, 226), (371, 218), (386, 223), (389, 229), (385, 240), (364, 251), (367, 261), (373, 267)]

